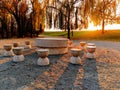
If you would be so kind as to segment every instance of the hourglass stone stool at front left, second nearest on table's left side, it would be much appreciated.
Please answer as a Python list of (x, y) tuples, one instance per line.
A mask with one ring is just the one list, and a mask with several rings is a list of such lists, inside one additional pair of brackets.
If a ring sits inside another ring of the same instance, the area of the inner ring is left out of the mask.
[(13, 57), (14, 62), (21, 62), (24, 61), (24, 55), (23, 55), (23, 47), (15, 47), (13, 48), (13, 52), (15, 56)]

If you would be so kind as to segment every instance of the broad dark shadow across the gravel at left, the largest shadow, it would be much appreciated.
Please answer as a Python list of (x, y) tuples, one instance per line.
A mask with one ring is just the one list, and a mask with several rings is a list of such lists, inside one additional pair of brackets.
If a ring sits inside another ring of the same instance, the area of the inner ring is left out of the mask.
[[(51, 64), (54, 64), (61, 55), (49, 56)], [(14, 63), (12, 61), (0, 65), (0, 90), (16, 90), (19, 87), (30, 84), (41, 75), (49, 66), (38, 66), (37, 53), (25, 55), (23, 62)]]

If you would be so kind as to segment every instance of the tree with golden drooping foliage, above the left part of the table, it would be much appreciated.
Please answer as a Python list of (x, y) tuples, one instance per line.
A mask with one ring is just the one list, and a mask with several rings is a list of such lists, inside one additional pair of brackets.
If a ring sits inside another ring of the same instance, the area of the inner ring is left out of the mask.
[(31, 12), (30, 12), (30, 19), (33, 30), (31, 30), (31, 37), (32, 33), (36, 32), (37, 34), (44, 31), (45, 28), (45, 11), (46, 5), (48, 4), (49, 0), (40, 1), (40, 0), (30, 0), (31, 4)]

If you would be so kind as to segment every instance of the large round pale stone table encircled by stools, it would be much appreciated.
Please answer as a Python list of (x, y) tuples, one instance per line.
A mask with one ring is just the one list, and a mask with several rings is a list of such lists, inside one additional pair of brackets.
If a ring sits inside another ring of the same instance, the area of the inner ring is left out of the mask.
[(49, 54), (65, 54), (68, 52), (67, 38), (36, 38), (36, 46), (49, 49)]

